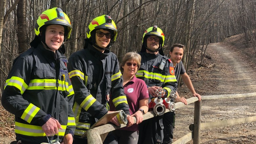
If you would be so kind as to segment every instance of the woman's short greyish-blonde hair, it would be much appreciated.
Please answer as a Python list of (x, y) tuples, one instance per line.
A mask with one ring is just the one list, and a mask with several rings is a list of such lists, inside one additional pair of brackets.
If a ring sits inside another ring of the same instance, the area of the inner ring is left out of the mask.
[(127, 62), (127, 61), (130, 61), (130, 60), (135, 60), (138, 62), (138, 69), (140, 67), (140, 62), (141, 62), (141, 56), (136, 53), (136, 52), (128, 52), (126, 53), (124, 56), (123, 56), (123, 59), (121, 60), (120, 62), (120, 71), (121, 73), (123, 73), (123, 68), (122, 66), (124, 66), (124, 64)]

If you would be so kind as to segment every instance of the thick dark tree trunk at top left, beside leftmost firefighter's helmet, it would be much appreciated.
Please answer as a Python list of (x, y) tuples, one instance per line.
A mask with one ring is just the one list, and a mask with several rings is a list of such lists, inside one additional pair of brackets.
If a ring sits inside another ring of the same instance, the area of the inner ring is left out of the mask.
[(17, 6), (17, 36), (19, 53), (28, 49), (27, 44), (27, 22), (26, 22), (26, 0), (20, 0)]

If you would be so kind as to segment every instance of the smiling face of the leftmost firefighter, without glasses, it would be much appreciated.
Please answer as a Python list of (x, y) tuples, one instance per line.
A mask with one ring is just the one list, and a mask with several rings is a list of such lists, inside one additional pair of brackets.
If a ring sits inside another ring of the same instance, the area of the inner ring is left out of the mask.
[(45, 43), (53, 51), (58, 50), (64, 41), (64, 27), (50, 25), (45, 30)]

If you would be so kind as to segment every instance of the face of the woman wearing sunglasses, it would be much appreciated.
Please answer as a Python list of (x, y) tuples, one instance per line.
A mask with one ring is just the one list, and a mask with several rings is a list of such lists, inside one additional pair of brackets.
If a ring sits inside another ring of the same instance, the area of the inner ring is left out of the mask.
[[(130, 65), (130, 66), (128, 66), (128, 65)], [(134, 65), (136, 65), (136, 66), (134, 66)], [(123, 75), (128, 76), (128, 77), (134, 76), (138, 70), (137, 65), (138, 65), (138, 62), (136, 60), (126, 61), (125, 64), (122, 66)]]

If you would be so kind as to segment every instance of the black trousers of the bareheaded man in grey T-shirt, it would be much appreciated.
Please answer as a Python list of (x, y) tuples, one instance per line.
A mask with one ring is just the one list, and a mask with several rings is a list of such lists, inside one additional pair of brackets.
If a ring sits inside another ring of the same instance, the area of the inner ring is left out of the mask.
[(175, 122), (175, 113), (167, 112), (163, 115), (163, 144), (171, 144), (173, 142), (173, 128)]

